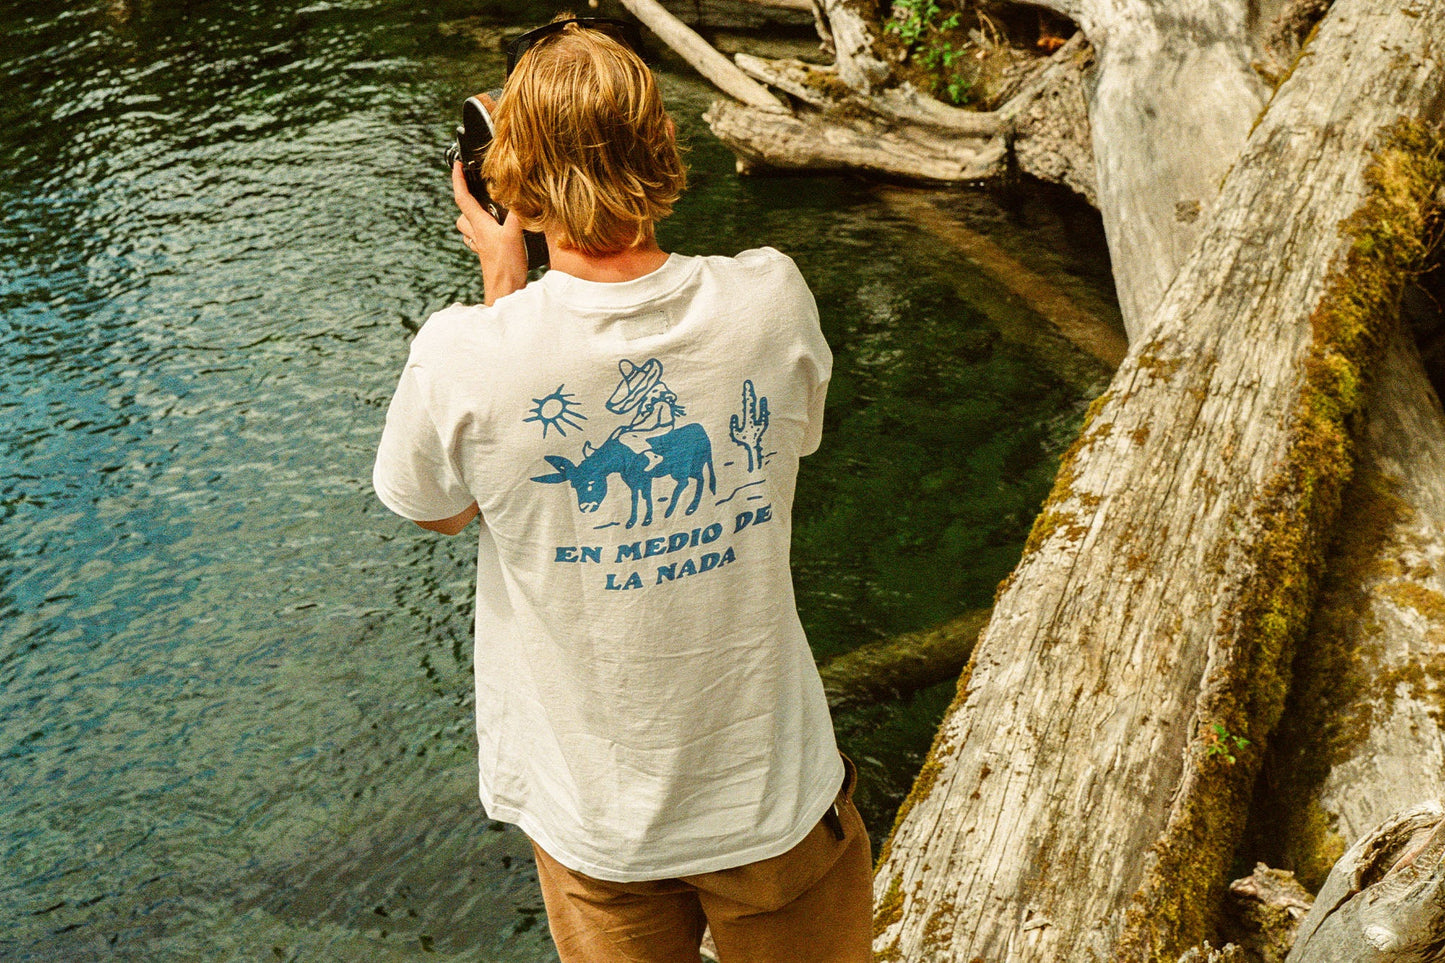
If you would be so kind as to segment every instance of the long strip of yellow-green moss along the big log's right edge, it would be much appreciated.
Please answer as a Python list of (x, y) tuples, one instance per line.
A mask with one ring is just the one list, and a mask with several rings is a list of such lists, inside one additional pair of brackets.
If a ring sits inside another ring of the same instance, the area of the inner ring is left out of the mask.
[(1370, 194), (1341, 226), (1344, 265), (1311, 317), (1312, 341), (1286, 455), (1266, 483), (1251, 523), (1260, 536), (1251, 573), (1220, 635), (1233, 639), (1227, 674), (1205, 681), (1198, 745), (1214, 724), (1250, 740), (1240, 765), (1195, 758), (1196, 784), (1153, 849), (1130, 901), (1117, 959), (1176, 960), (1217, 928), (1225, 875), (1243, 833), (1260, 749), (1285, 706), (1287, 668), (1316, 594), (1327, 534), (1350, 480), (1350, 424), (1364, 373), (1380, 354), (1381, 325), (1425, 263), (1436, 231), (1435, 191), (1445, 184), (1438, 132), (1397, 124), (1366, 172)]

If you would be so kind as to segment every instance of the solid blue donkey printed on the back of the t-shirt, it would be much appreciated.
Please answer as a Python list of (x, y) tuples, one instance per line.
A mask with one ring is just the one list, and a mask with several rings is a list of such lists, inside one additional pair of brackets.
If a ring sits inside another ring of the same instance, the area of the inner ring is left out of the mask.
[[(704, 431), (702, 425), (691, 422), (681, 428), (673, 428), (665, 435), (650, 438), (647, 445), (652, 451), (650, 458), (647, 453), (633, 451), (616, 437), (608, 438), (598, 448), (587, 442), (582, 445), (582, 460), (577, 464), (561, 455), (543, 455), (548, 464), (556, 468), (556, 471), (535, 476), (532, 480), (542, 482), (543, 484), (569, 482), (577, 490), (577, 508), (582, 512), (595, 512), (601, 508), (603, 499), (607, 497), (607, 476), (620, 474), (623, 484), (631, 490), (633, 496), (633, 510), (627, 519), (627, 528), (637, 523), (639, 499), (647, 503), (647, 513), (642, 523), (652, 525), (653, 479), (670, 476), (676, 480), (663, 518), (672, 518), (678, 502), (682, 499), (682, 492), (688, 487), (688, 482), (696, 482), (698, 484), (692, 492), (692, 502), (686, 508), (686, 515), (698, 510), (698, 502), (702, 500), (704, 483), (717, 495), (718, 479), (712, 470), (712, 442), (708, 441), (708, 432)], [(649, 461), (653, 461), (652, 468), (647, 467)], [(705, 480), (704, 470), (707, 470)]]

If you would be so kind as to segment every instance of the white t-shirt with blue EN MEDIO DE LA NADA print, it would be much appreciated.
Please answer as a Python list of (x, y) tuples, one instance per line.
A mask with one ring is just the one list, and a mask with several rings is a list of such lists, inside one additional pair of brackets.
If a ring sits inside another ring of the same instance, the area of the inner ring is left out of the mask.
[(562, 865), (663, 879), (792, 849), (842, 762), (789, 570), (832, 354), (793, 262), (549, 272), (434, 314), (373, 483), (481, 508), (481, 801)]

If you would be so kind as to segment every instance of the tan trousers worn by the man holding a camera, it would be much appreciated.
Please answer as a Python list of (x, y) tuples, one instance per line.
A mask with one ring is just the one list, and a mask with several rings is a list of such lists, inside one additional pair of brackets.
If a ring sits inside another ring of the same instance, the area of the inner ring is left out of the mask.
[(618, 883), (574, 872), (533, 843), (562, 963), (698, 963), (708, 925), (721, 963), (873, 960), (873, 860), (853, 805), (857, 772), (844, 762), (835, 807), (803, 842), (746, 866)]

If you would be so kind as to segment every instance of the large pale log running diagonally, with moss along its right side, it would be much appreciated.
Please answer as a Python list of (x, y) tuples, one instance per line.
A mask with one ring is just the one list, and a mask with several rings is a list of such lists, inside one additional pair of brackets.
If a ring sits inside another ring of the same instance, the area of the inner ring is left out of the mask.
[[(1442, 40), (1445, 7), (1338, 0), (1251, 133), (900, 810), (881, 959), (1176, 959), (1209, 934), (1345, 421), (1438, 187), (1433, 140), (1381, 129), (1435, 114)], [(1379, 175), (1396, 163), (1403, 192)]]

